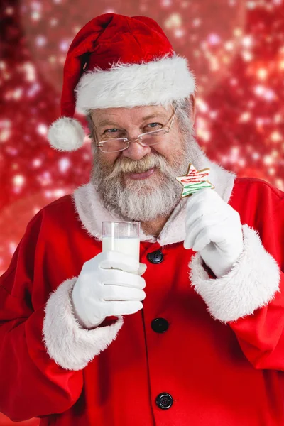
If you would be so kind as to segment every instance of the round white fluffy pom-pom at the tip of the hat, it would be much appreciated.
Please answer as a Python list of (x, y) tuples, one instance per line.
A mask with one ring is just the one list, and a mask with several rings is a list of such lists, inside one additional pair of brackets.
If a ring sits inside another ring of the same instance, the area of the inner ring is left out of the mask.
[(61, 117), (48, 129), (48, 141), (58, 151), (76, 151), (84, 143), (84, 129), (79, 121)]

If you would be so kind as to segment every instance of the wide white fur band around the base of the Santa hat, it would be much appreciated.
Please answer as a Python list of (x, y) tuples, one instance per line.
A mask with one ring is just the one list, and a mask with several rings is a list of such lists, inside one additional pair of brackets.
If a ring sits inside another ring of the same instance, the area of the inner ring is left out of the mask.
[(167, 105), (195, 92), (195, 77), (178, 55), (142, 64), (86, 72), (75, 89), (76, 110)]

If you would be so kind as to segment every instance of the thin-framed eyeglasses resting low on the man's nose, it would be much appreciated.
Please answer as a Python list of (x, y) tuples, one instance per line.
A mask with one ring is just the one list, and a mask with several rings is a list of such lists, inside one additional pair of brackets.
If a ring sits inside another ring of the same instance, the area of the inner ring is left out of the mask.
[(118, 153), (119, 151), (124, 151), (129, 148), (130, 143), (138, 142), (141, 146), (152, 146), (156, 145), (163, 141), (163, 136), (170, 132), (170, 129), (173, 125), (173, 120), (175, 119), (175, 112), (173, 113), (173, 117), (170, 120), (170, 124), (168, 126), (163, 126), (163, 129), (148, 131), (147, 133), (141, 133), (137, 139), (133, 141), (129, 141), (127, 138), (114, 138), (107, 139), (107, 141), (100, 141), (97, 143), (97, 147), (103, 153)]

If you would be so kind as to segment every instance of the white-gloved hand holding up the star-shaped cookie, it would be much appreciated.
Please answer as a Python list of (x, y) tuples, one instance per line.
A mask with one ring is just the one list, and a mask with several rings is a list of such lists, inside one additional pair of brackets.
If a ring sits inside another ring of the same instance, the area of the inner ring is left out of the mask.
[(204, 189), (187, 201), (185, 249), (199, 251), (217, 278), (231, 270), (243, 251), (239, 213), (216, 191)]

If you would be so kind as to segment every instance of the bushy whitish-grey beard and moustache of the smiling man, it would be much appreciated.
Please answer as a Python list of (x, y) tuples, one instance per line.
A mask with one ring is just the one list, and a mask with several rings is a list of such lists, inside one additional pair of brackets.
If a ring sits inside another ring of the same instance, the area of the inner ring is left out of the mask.
[[(200, 147), (193, 136), (185, 144), (182, 155), (168, 165), (167, 160), (159, 153), (146, 155), (141, 160), (123, 158), (118, 164), (109, 168), (104, 166), (99, 155), (94, 156), (92, 168), (92, 182), (102, 197), (104, 207), (119, 215), (122, 219), (137, 222), (149, 222), (158, 217), (168, 217), (180, 201), (182, 185), (175, 178), (187, 173), (188, 165), (192, 161), (196, 164), (197, 157), (201, 158)], [(177, 155), (177, 154), (176, 154)], [(198, 161), (200, 163), (200, 161)], [(153, 176), (146, 180), (124, 180), (123, 172), (141, 173), (149, 168), (157, 167), (160, 176)], [(197, 165), (198, 167), (198, 165)], [(110, 170), (107, 170), (110, 169)]]

